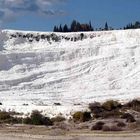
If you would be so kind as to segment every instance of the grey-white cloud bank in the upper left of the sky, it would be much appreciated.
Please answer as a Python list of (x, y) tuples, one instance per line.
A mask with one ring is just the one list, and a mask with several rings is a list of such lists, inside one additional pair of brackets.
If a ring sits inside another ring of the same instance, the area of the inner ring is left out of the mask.
[(54, 9), (54, 5), (67, 0), (0, 0), (0, 22), (16, 19), (22, 14), (63, 15), (64, 12)]

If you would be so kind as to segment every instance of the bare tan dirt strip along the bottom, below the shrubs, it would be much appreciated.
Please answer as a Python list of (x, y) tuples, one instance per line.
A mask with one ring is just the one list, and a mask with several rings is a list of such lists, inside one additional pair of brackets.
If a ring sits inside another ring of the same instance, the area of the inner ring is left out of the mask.
[(0, 140), (139, 140), (140, 131), (97, 132), (50, 129), (45, 126), (3, 125)]

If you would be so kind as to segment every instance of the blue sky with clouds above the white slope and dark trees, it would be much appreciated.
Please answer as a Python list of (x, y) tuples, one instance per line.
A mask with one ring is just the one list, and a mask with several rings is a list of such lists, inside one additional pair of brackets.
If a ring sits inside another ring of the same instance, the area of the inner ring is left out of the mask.
[(51, 31), (73, 19), (119, 28), (140, 21), (140, 0), (0, 0), (1, 28)]

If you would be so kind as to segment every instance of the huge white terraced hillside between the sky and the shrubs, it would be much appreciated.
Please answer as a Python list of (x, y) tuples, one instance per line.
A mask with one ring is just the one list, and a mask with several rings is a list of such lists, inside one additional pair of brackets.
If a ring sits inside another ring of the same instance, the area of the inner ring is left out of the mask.
[(0, 108), (68, 113), (139, 97), (140, 30), (0, 33)]

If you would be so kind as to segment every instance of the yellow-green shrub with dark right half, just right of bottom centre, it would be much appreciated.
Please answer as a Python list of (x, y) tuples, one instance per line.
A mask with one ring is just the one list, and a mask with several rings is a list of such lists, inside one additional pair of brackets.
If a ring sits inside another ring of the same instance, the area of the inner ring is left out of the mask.
[(85, 122), (89, 121), (91, 119), (91, 113), (90, 112), (75, 112), (73, 114), (73, 120), (75, 122)]

